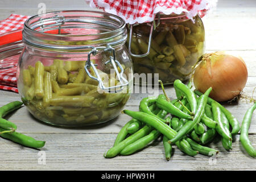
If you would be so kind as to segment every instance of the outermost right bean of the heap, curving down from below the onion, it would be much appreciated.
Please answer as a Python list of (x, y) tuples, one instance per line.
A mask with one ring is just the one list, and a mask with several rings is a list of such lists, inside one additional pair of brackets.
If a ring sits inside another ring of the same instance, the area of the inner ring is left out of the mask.
[[(194, 90), (194, 92), (197, 94), (197, 96), (201, 96), (201, 92)], [(212, 102), (216, 102), (216, 104), (220, 107), (221, 111), (225, 114), (226, 118), (228, 118), (228, 121), (230, 123), (230, 125), (232, 126), (232, 135), (236, 135), (238, 134), (238, 132), (240, 131), (241, 127), (240, 127), (240, 123), (237, 121), (237, 119), (234, 117), (233, 114), (230, 113), (230, 111), (228, 111), (228, 109), (226, 109), (224, 106), (222, 106), (220, 103), (218, 103), (217, 101), (214, 101), (212, 98), (208, 97), (208, 104), (211, 105)]]

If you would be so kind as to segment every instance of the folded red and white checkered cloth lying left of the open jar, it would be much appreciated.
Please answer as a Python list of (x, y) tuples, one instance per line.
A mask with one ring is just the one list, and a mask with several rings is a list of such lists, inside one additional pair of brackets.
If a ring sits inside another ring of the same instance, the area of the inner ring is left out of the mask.
[[(0, 35), (9, 31), (17, 30), (23, 28), (24, 22), (29, 18), (29, 16), (11, 14), (9, 18), (0, 21)], [(1, 41), (1, 39), (0, 39)], [(1, 62), (1, 60), (0, 60)], [(17, 59), (5, 59), (1, 62), (2, 65), (8, 66), (15, 64), (14, 67), (0, 69), (0, 89), (10, 90), (18, 93), (17, 84), (16, 84), (16, 63)]]

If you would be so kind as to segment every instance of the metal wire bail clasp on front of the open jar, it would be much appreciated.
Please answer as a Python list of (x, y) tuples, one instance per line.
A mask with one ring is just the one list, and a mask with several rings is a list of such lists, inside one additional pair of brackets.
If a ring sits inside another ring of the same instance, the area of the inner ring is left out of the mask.
[[(105, 62), (105, 65), (106, 64), (112, 64), (113, 65), (113, 68), (114, 68), (114, 71), (115, 71), (115, 75), (117, 75), (117, 80), (119, 81), (119, 85), (114, 85), (114, 86), (105, 86), (104, 85), (104, 82), (102, 81), (102, 78), (100, 77), (100, 74), (98, 73), (97, 69), (96, 69), (96, 66), (97, 64), (93, 64), (92, 61), (90, 61), (90, 55), (96, 55), (97, 53), (97, 48), (93, 48), (92, 51), (90, 51), (88, 53), (88, 60), (86, 61), (86, 64), (85, 64), (85, 71), (86, 73), (88, 74), (88, 76), (90, 78), (93, 78), (94, 80), (97, 80), (99, 85), (100, 86), (100, 89), (102, 90), (105, 90), (105, 91), (108, 91), (109, 93), (111, 92), (114, 92), (114, 93), (118, 93), (118, 92), (121, 92), (123, 90), (123, 87), (128, 85), (128, 81), (126, 80), (126, 78), (123, 77), (123, 67), (122, 65), (119, 63), (118, 60), (115, 59), (115, 50), (114, 48), (112, 48), (110, 45), (108, 45), (107, 47), (104, 48), (104, 52), (106, 51), (110, 51), (112, 52), (112, 55), (113, 56), (109, 56), (109, 60)], [(117, 65), (115, 65), (115, 63), (118, 65), (119, 69), (120, 69), (120, 73), (118, 72), (118, 69), (117, 69)], [(96, 75), (96, 77), (92, 76), (89, 72), (88, 69), (90, 69), (90, 67), (93, 68), (93, 71)]]

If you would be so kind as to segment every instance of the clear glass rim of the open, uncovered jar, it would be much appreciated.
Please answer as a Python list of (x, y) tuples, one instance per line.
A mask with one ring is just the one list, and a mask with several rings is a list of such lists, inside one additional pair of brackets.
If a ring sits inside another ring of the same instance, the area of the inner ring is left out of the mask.
[[(67, 23), (67, 24), (66, 24)], [(74, 24), (76, 23), (76, 24)], [(31, 16), (24, 23), (23, 42), (30, 46), (53, 49), (87, 49), (88, 45), (119, 45), (126, 42), (125, 21), (113, 14), (102, 11), (65, 10)], [(98, 30), (88, 34), (61, 34), (67, 28)], [(48, 31), (58, 31), (57, 34)], [(81, 44), (67, 45), (63, 42)], [(87, 41), (87, 43), (86, 43)], [(90, 44), (89, 44), (89, 43)], [(86, 47), (87, 46), (87, 47)]]

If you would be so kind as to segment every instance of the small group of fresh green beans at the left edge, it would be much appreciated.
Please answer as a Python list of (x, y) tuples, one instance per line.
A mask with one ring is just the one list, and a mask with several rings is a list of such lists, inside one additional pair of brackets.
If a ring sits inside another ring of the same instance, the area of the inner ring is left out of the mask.
[(19, 109), (22, 105), (23, 102), (14, 101), (0, 107), (0, 137), (9, 139), (26, 147), (42, 148), (46, 142), (35, 140), (32, 137), (16, 132), (15, 130), (17, 129), (17, 126), (13, 122), (3, 118), (11, 113), (11, 111)]

